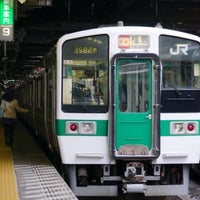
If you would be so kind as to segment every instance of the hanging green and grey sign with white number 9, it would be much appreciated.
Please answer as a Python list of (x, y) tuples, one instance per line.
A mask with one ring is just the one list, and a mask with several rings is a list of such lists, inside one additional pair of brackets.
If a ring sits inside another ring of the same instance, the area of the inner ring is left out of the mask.
[(13, 0), (0, 0), (0, 41), (13, 40)]

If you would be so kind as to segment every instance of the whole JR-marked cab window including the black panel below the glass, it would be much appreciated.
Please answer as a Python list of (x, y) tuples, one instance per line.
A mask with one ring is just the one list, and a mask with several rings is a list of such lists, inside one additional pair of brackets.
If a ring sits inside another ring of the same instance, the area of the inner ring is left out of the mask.
[(159, 42), (161, 112), (200, 112), (200, 44), (164, 35)]

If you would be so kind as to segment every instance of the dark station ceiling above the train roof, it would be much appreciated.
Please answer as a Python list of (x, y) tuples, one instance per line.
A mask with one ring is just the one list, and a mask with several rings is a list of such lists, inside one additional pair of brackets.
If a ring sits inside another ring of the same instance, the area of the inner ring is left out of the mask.
[(200, 0), (14, 0), (14, 41), (0, 41), (0, 77), (23, 79), (66, 33), (100, 25), (155, 26), (200, 35)]

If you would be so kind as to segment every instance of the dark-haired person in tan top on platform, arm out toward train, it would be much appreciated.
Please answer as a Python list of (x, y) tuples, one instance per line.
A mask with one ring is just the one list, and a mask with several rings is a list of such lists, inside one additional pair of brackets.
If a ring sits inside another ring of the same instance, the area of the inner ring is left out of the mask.
[(5, 101), (5, 111), (2, 118), (4, 128), (4, 138), (6, 145), (13, 146), (14, 127), (17, 120), (16, 112), (27, 113), (28, 109), (19, 106), (18, 100), (15, 98), (13, 90), (6, 91), (2, 99)]

